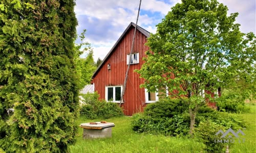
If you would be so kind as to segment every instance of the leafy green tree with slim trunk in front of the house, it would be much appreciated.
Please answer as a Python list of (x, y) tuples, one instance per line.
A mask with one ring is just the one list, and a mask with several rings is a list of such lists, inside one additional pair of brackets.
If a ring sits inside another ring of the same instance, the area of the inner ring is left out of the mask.
[(238, 78), (253, 83), (255, 36), (234, 23), (238, 13), (216, 0), (183, 0), (157, 25), (148, 38), (150, 51), (142, 68), (142, 87), (168, 89), (170, 96), (188, 99), (190, 134), (198, 108), (209, 99), (202, 91), (230, 87)]

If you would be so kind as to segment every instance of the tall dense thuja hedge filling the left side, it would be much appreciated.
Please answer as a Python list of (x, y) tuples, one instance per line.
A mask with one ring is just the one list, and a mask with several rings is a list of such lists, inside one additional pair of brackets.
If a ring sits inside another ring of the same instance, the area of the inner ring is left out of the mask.
[(72, 0), (1, 1), (0, 150), (66, 152), (74, 142), (74, 6)]

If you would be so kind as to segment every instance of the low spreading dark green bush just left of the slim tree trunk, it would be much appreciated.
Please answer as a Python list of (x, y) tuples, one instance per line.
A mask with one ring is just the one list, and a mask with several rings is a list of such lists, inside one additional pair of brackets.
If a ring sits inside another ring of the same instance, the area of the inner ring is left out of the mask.
[(132, 129), (142, 133), (187, 135), (189, 115), (186, 104), (178, 99), (165, 99), (148, 104), (143, 113), (133, 115)]

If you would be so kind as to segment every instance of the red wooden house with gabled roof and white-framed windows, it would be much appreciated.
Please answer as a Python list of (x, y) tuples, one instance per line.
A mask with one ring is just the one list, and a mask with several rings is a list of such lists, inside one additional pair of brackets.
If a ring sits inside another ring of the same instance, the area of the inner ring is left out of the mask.
[(146, 89), (139, 87), (144, 80), (134, 72), (143, 64), (142, 58), (149, 49), (145, 43), (150, 36), (150, 32), (137, 25), (133, 53), (130, 54), (135, 26), (133, 22), (129, 24), (92, 77), (94, 90), (99, 93), (100, 99), (120, 103), (125, 73), (131, 56), (126, 89), (121, 104), (125, 115), (141, 112), (146, 104), (154, 103), (159, 99), (158, 93), (147, 92)]

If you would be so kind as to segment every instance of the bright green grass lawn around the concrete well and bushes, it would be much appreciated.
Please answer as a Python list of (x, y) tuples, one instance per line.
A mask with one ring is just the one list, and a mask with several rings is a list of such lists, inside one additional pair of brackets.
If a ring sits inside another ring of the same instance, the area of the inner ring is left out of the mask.
[[(256, 106), (251, 106), (252, 113), (241, 114), (248, 122), (245, 143), (235, 143), (230, 148), (231, 152), (256, 152)], [(77, 125), (84, 122), (100, 121), (88, 120), (80, 117)], [(137, 134), (132, 131), (131, 117), (106, 119), (114, 122), (112, 138), (82, 139), (82, 128), (79, 128), (75, 145), (70, 146), (70, 152), (204, 152), (203, 144), (188, 138), (165, 137), (161, 135)]]

